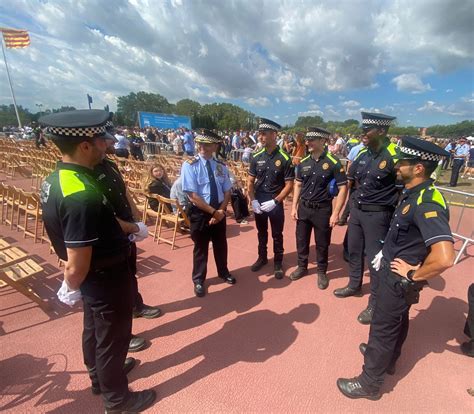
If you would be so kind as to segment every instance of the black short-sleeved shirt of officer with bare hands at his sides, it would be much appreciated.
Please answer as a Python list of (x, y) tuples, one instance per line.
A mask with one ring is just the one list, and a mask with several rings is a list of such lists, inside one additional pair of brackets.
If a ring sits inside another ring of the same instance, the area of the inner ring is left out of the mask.
[(341, 162), (327, 151), (318, 159), (306, 156), (296, 168), (296, 181), (302, 183), (300, 197), (303, 200), (315, 203), (331, 200), (333, 196), (329, 192), (329, 183), (333, 179), (338, 186), (347, 183)]

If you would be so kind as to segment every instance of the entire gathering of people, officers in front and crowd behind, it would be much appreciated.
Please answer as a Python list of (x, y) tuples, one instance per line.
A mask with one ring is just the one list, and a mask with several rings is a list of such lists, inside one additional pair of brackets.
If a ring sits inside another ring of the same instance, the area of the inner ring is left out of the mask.
[[(92, 391), (102, 394), (106, 412), (140, 412), (156, 398), (153, 390), (131, 392), (127, 387), (126, 374), (134, 366), (127, 352), (142, 345), (141, 338), (131, 334), (132, 317), (155, 318), (161, 310), (141, 299), (135, 277), (136, 243), (148, 231), (119, 169), (106, 157), (115, 153), (143, 160), (146, 142), (164, 143), (185, 155), (174, 183), (164, 166), (151, 162), (143, 190), (176, 198), (186, 206), (194, 243), (191, 281), (198, 297), (207, 293), (210, 243), (217, 276), (229, 285), (238, 283), (227, 264), (226, 218), (231, 201), (236, 215), (242, 209), (245, 219), (249, 206), (254, 213), (258, 247), (249, 270), (258, 272), (268, 265), (270, 227), (273, 274), (282, 279), (288, 266), (284, 205), (291, 195), (297, 267), (288, 276), (296, 282), (308, 274), (314, 232), (316, 283), (321, 290), (330, 284), (332, 230), (348, 223), (344, 242), (348, 282), (333, 294), (341, 299), (360, 296), (367, 260), (370, 297), (357, 319), (370, 325), (370, 333), (367, 343), (360, 345), (364, 355), (360, 375), (338, 379), (337, 387), (349, 398), (379, 399), (385, 376), (396, 370), (411, 305), (418, 303), (427, 280), (453, 265), (448, 206), (432, 185), (432, 177), (446, 159), (452, 158), (453, 171), (459, 160), (469, 162), (466, 140), (444, 149), (442, 142), (433, 140), (390, 138), (395, 118), (366, 112), (360, 137), (333, 135), (317, 125), (285, 134), (280, 125), (265, 118), (259, 119), (256, 131), (233, 134), (206, 129), (127, 131), (114, 128), (109, 118), (104, 111), (89, 110), (40, 120), (63, 156), (41, 188), (46, 231), (66, 262), (58, 297), (69, 304), (82, 298), (84, 360)], [(248, 169), (245, 193), (234, 186), (225, 162), (235, 154), (241, 154), (239, 160)], [(235, 189), (240, 191), (240, 203), (234, 205)], [(158, 207), (155, 202), (150, 203), (152, 209)], [(473, 296), (474, 284), (469, 288), (465, 327), (470, 340), (461, 347), (470, 357), (474, 356)]]

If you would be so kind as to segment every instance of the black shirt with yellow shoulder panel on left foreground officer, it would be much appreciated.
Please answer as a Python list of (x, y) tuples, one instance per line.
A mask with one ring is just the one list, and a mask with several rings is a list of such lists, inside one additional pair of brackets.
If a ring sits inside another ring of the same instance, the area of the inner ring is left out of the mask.
[(92, 246), (94, 262), (122, 256), (130, 246), (92, 174), (80, 165), (59, 162), (41, 185), (46, 232), (62, 260), (67, 260), (66, 248)]

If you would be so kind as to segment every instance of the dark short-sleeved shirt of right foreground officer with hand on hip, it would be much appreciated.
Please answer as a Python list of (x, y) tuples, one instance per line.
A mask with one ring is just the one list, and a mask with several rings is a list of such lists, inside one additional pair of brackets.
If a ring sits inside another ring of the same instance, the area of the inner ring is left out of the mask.
[(417, 265), (428, 255), (428, 248), (440, 241), (454, 242), (449, 228), (449, 210), (442, 194), (425, 181), (404, 190), (383, 245), (383, 256), (400, 258)]

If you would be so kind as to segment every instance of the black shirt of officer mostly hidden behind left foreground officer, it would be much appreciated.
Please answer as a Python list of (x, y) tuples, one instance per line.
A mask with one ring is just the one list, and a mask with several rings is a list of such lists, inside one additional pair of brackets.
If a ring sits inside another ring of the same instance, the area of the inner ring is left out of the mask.
[(134, 221), (126, 196), (127, 187), (117, 165), (105, 158), (94, 168), (94, 175), (100, 190), (112, 204), (117, 217), (125, 221)]

